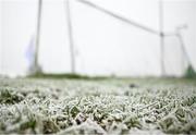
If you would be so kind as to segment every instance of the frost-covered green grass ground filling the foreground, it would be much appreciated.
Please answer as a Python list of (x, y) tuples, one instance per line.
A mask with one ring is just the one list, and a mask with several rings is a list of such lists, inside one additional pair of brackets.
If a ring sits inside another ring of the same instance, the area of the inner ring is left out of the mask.
[(0, 79), (0, 134), (196, 134), (188, 79)]

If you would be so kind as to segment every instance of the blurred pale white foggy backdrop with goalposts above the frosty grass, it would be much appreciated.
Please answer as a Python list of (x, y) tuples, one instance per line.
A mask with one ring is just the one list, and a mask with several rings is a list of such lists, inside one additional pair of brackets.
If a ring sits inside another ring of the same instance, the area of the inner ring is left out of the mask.
[(0, 74), (183, 76), (195, 0), (0, 0)]

